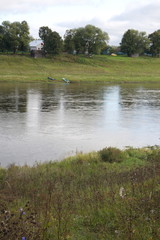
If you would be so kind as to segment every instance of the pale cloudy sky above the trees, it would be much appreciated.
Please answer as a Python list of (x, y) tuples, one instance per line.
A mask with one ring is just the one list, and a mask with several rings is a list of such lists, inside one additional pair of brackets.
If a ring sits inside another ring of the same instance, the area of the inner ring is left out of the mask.
[(63, 37), (67, 29), (92, 24), (118, 45), (128, 29), (160, 29), (160, 0), (0, 0), (0, 24), (6, 20), (26, 20), (34, 38), (42, 26)]

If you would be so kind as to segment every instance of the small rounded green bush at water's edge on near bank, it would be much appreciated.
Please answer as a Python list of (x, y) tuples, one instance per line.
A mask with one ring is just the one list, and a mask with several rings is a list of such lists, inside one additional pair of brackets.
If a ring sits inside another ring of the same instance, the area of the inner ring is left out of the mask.
[(99, 151), (100, 158), (104, 162), (121, 162), (123, 160), (123, 153), (118, 148), (108, 147)]

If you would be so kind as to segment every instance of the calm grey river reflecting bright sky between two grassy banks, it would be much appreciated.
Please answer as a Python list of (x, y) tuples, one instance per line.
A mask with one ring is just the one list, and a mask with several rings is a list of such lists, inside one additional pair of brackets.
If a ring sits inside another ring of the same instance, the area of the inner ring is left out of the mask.
[(0, 163), (160, 145), (160, 84), (0, 83)]

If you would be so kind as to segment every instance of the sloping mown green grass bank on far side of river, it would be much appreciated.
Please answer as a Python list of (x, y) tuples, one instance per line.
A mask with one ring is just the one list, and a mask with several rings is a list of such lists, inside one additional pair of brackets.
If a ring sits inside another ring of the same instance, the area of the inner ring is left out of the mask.
[(158, 82), (160, 58), (72, 56), (33, 59), (0, 55), (0, 81), (48, 81), (51, 76), (71, 81)]

